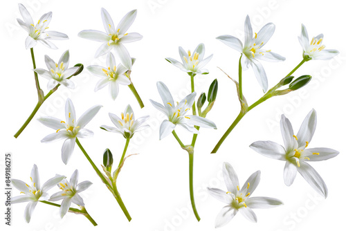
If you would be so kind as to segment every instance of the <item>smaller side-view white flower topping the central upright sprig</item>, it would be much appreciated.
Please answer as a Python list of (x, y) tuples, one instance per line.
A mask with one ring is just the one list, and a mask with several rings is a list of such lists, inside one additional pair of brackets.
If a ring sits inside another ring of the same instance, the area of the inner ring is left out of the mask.
[(172, 58), (166, 58), (168, 62), (173, 64), (174, 66), (181, 69), (181, 71), (187, 72), (189, 75), (192, 74), (201, 74), (206, 75), (209, 73), (207, 69), (202, 69), (210, 59), (212, 59), (212, 55), (209, 55), (206, 57), (206, 59), (203, 59), (204, 57), (204, 44), (199, 44), (196, 49), (194, 49), (194, 52), (191, 53), (190, 50), (188, 50), (188, 53), (185, 52), (185, 50), (179, 46), (179, 55), (181, 57), (181, 62), (177, 61), (176, 59)]

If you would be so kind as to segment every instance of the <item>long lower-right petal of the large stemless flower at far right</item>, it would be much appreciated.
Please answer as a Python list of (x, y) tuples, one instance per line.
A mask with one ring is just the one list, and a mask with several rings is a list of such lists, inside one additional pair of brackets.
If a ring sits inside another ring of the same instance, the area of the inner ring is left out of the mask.
[(313, 167), (311, 167), (308, 163), (304, 163), (304, 161), (300, 162), (300, 167), (298, 167), (298, 172), (302, 177), (313, 187), (316, 192), (318, 192), (320, 195), (327, 198), (328, 196), (328, 189), (327, 185), (325, 185), (325, 181), (321, 178), (320, 174), (316, 172)]

